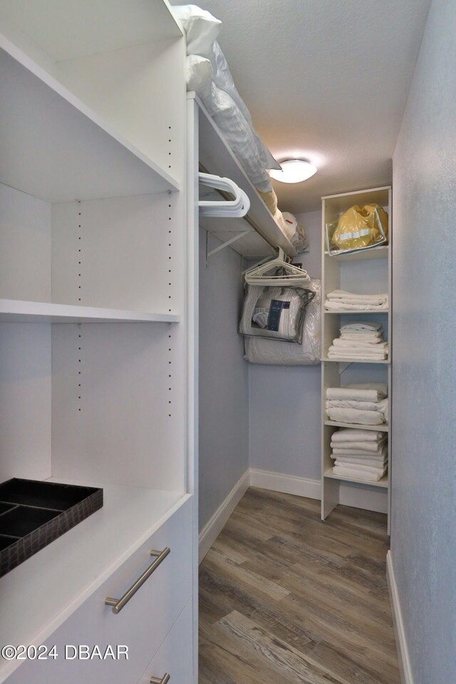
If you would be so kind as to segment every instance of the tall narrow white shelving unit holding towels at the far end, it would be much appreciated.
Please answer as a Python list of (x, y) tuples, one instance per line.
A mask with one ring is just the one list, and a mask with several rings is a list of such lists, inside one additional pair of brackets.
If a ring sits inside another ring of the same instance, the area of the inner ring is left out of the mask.
[[(341, 195), (322, 197), (322, 292), (321, 292), (321, 397), (322, 397), (322, 429), (321, 429), (321, 517), (326, 519), (341, 498), (341, 484), (350, 483), (352, 486), (366, 489), (364, 500), (369, 497), (375, 498), (375, 506), (378, 507), (378, 494), (383, 492), (384, 504), (380, 507), (390, 510), (390, 487), (389, 472), (382, 480), (375, 483), (366, 483), (354, 477), (340, 477), (333, 475), (333, 460), (331, 459), (331, 435), (338, 427), (356, 427), (359, 430), (380, 430), (388, 432), (388, 459), (391, 462), (391, 418), (388, 425), (352, 425), (348, 423), (336, 423), (326, 420), (325, 401), (328, 387), (344, 387), (351, 383), (385, 382), (388, 383), (388, 395), (391, 416), (391, 355), (392, 355), (392, 331), (391, 331), (391, 254), (390, 246), (374, 247), (361, 252), (351, 254), (338, 254), (330, 256), (326, 251), (325, 227), (328, 222), (333, 222), (353, 204), (363, 207), (365, 204), (375, 202), (380, 204), (388, 212), (389, 220), (389, 244), (391, 244), (391, 188), (378, 187), (371, 190), (346, 192)], [(351, 292), (375, 294), (388, 292), (389, 309), (376, 313), (365, 311), (326, 311), (324, 302), (326, 295), (335, 290), (343, 289)], [(334, 338), (339, 336), (339, 328), (348, 321), (367, 320), (381, 323), (383, 336), (388, 340), (389, 354), (386, 361), (353, 361), (350, 359), (333, 361), (328, 359), (328, 348)], [(382, 499), (380, 499), (381, 502)], [(389, 516), (388, 516), (389, 520)]]

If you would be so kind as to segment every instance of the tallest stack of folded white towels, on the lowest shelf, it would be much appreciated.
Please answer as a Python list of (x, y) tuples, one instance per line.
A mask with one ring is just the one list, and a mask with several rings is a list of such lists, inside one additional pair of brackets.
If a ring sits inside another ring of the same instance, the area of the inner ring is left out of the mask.
[(385, 432), (342, 427), (331, 437), (333, 474), (378, 482), (388, 470), (388, 443)]

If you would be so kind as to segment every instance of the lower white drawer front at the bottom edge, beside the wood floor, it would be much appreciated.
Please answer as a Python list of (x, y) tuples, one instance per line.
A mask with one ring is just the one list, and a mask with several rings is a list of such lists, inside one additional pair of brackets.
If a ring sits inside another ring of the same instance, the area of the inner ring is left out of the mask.
[(138, 684), (150, 684), (151, 677), (162, 679), (165, 673), (170, 675), (170, 684), (193, 684), (192, 631), (192, 601), (189, 601)]

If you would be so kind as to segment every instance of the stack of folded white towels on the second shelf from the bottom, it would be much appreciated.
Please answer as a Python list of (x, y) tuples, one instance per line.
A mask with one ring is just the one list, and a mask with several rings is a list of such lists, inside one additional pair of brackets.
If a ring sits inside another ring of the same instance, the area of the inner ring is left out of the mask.
[(367, 383), (328, 387), (326, 415), (336, 423), (382, 425), (388, 423), (388, 385)]

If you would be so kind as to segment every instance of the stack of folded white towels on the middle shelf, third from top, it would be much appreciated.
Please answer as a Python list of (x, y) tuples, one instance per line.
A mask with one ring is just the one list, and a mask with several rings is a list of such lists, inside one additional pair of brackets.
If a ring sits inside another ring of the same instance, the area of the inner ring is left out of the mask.
[(347, 323), (341, 336), (328, 349), (328, 358), (368, 359), (388, 358), (388, 342), (383, 339), (380, 323)]

